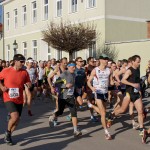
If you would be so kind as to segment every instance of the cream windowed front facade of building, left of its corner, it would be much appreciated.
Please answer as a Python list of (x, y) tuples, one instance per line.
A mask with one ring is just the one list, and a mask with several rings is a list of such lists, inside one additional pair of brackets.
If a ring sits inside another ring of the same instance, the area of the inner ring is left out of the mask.
[[(42, 40), (41, 31), (47, 28), (50, 21), (60, 23), (61, 20), (71, 22), (97, 22), (104, 32), (104, 3), (95, 0), (6, 0), (4, 6), (4, 40), (5, 59), (14, 55), (13, 43), (16, 40), (17, 53), (35, 60), (59, 59), (68, 56), (49, 47)], [(99, 7), (99, 8), (98, 8)], [(99, 11), (101, 10), (101, 11)], [(83, 14), (83, 15), (80, 15)], [(80, 16), (80, 17), (79, 17)], [(103, 33), (104, 35), (104, 33)], [(81, 53), (88, 57), (96, 50), (95, 43)], [(77, 52), (80, 53), (80, 52)], [(77, 56), (77, 53), (74, 56)]]

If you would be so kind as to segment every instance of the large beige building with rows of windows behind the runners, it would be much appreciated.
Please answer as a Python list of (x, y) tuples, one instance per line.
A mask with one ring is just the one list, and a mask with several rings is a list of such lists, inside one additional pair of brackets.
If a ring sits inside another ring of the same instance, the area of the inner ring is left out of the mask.
[[(150, 20), (149, 0), (5, 0), (4, 7), (4, 47), (6, 60), (14, 53), (22, 53), (36, 60), (59, 59), (68, 56), (49, 47), (42, 40), (41, 31), (50, 21), (95, 23), (101, 33), (98, 41), (89, 49), (74, 56), (95, 56), (102, 44), (115, 45), (118, 59), (139, 54), (146, 66), (150, 42), (147, 21)], [(17, 49), (13, 48), (16, 40)], [(142, 70), (144, 73), (144, 70)]]

